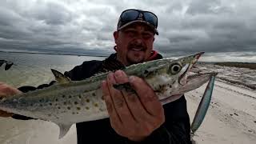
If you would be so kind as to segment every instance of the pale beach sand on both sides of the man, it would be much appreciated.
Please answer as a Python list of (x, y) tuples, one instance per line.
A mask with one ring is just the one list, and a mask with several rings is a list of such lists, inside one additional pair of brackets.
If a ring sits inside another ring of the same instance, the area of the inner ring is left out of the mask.
[[(206, 85), (201, 86), (186, 94), (191, 122), (205, 87)], [(77, 142), (75, 125), (60, 140), (58, 133), (58, 126), (52, 122), (0, 118), (0, 144)], [(206, 118), (195, 132), (193, 140), (198, 144), (256, 143), (256, 91), (216, 80)]]

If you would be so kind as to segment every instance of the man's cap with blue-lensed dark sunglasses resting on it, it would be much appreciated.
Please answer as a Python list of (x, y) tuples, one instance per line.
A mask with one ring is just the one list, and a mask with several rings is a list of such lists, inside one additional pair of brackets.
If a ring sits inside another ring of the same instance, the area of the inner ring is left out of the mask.
[(134, 21), (146, 22), (150, 26), (153, 26), (155, 30), (158, 27), (158, 17), (154, 13), (144, 10), (129, 9), (123, 11), (120, 15), (118, 29), (121, 29), (122, 26)]

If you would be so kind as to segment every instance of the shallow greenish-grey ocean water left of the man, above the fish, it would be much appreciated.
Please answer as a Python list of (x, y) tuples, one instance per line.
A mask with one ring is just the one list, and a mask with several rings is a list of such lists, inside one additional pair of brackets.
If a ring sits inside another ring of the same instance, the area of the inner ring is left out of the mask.
[(0, 59), (14, 62), (10, 70), (0, 67), (0, 82), (10, 86), (38, 86), (54, 80), (50, 69), (62, 73), (81, 65), (84, 61), (102, 60), (104, 57), (54, 55), (54, 54), (23, 54), (0, 52)]

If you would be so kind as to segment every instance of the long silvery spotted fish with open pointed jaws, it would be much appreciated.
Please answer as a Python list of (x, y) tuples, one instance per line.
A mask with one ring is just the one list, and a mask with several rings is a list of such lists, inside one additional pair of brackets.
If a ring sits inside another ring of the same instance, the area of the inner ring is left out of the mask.
[[(126, 66), (128, 75), (143, 78), (157, 94), (162, 105), (173, 102), (182, 94), (197, 89), (215, 74), (190, 75), (204, 52), (182, 58), (162, 58)], [(59, 126), (59, 137), (63, 138), (70, 126), (78, 122), (108, 118), (106, 103), (102, 96), (101, 83), (106, 80), (108, 71), (95, 74), (82, 81), (71, 81), (58, 70), (51, 69), (57, 82), (41, 90), (14, 94), (0, 99), (0, 110), (26, 117), (54, 122)], [(131, 90), (129, 84), (117, 84), (118, 90)], [(200, 119), (202, 121), (202, 118)]]

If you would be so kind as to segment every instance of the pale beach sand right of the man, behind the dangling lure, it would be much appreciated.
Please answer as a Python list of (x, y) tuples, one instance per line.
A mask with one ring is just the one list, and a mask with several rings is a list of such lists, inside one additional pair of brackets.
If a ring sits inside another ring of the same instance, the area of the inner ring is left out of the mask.
[[(190, 121), (205, 86), (187, 93)], [(256, 143), (256, 91), (216, 81), (212, 101), (194, 141), (203, 143)]]

